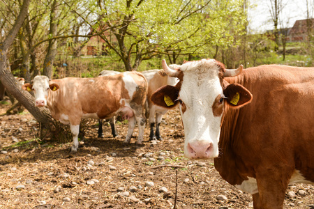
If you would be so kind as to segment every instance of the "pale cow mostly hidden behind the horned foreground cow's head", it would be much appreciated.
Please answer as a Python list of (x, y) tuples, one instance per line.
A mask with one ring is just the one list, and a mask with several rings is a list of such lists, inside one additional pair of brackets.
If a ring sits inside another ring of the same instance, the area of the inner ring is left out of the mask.
[[(174, 68), (176, 65), (170, 65), (170, 68)], [(147, 111), (147, 118), (149, 118), (149, 125), (150, 125), (150, 134), (149, 139), (150, 140), (162, 140), (162, 137), (160, 135), (159, 126), (161, 123), (161, 119), (163, 118), (163, 115), (167, 113), (168, 109), (159, 107), (155, 105), (149, 98), (151, 98), (151, 95), (161, 86), (165, 85), (171, 85), (174, 86), (177, 84), (177, 78), (175, 77), (168, 77), (165, 74), (164, 70), (147, 70), (143, 71), (142, 74), (147, 79), (148, 82), (148, 92), (147, 92), (147, 105), (146, 105), (146, 111)], [(155, 119), (156, 116), (156, 119)], [(156, 123), (156, 134), (154, 132)]]

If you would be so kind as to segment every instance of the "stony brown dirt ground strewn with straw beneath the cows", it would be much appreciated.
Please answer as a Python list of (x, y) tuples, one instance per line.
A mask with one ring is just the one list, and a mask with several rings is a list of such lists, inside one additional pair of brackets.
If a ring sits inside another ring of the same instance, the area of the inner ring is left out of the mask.
[[(0, 103), (0, 114), (9, 107)], [(28, 111), (0, 116), (0, 208), (173, 208), (174, 203), (177, 208), (253, 208), (251, 195), (220, 178), (212, 160), (183, 157), (177, 110), (164, 116), (163, 141), (151, 144), (147, 125), (143, 146), (135, 138), (123, 144), (123, 123), (117, 124), (119, 137), (113, 138), (105, 124), (105, 137), (97, 138), (97, 121), (92, 121), (73, 154), (72, 142), (36, 140), (38, 127)], [(160, 192), (162, 187), (167, 192)], [(314, 185), (289, 186), (285, 208), (313, 205)]]

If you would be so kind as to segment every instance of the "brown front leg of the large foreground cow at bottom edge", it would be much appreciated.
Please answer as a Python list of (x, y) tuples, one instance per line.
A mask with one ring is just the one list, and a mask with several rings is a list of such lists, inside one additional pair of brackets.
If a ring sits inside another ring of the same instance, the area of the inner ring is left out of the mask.
[[(271, 169), (267, 169), (267, 167)], [(260, 203), (258, 203), (257, 196), (255, 196), (257, 203), (254, 203), (254, 205), (260, 205), (260, 208), (282, 209), (292, 170), (279, 164), (271, 164), (267, 167), (257, 170), (256, 180)]]

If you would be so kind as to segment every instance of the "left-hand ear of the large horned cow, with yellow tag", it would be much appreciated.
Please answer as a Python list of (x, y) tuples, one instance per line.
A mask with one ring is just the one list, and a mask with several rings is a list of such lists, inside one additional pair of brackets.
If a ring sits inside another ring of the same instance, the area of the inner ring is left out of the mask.
[(151, 95), (151, 102), (154, 104), (171, 109), (178, 104), (178, 94), (179, 89), (174, 86), (163, 86), (158, 88), (152, 95)]

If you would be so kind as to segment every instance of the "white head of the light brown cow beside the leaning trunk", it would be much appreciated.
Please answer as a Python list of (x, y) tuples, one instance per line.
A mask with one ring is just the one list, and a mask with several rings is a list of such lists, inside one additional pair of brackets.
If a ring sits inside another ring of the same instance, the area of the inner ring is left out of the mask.
[(35, 96), (35, 106), (44, 107), (47, 105), (48, 91), (57, 91), (57, 84), (49, 84), (50, 79), (44, 75), (37, 75), (33, 78), (33, 84), (24, 84), (22, 88), (26, 91), (33, 91)]

